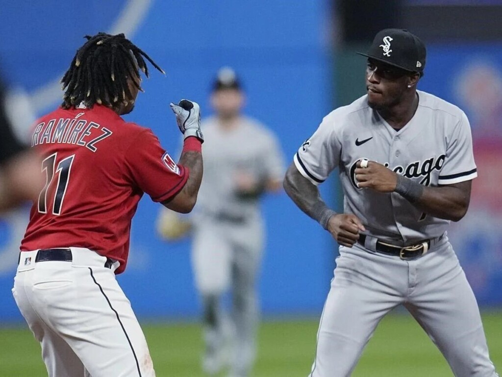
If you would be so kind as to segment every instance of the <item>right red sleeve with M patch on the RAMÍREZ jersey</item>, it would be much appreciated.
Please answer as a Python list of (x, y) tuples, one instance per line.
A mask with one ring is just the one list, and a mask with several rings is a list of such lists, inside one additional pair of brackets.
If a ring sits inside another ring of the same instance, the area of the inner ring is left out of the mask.
[(178, 194), (189, 171), (177, 165), (160, 145), (150, 129), (143, 130), (126, 151), (131, 178), (154, 202), (163, 202)]

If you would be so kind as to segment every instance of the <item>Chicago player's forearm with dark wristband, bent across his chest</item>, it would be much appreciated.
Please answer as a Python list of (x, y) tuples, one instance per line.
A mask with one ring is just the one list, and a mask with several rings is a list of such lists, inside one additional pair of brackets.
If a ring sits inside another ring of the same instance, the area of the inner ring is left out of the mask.
[(399, 184), (396, 191), (424, 213), (440, 219), (459, 221), (467, 212), (470, 181), (439, 187), (423, 186), (417, 182), (412, 184), (408, 192)]

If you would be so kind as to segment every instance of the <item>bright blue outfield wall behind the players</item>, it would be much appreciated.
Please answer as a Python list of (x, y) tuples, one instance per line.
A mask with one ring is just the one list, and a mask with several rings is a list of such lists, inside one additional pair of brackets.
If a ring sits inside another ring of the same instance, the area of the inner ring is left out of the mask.
[[(209, 114), (210, 82), (222, 65), (240, 74), (245, 112), (277, 133), (288, 164), (330, 110), (327, 1), (272, 0), (260, 7), (231, 0), (31, 3), (3, 7), (0, 34), (10, 38), (0, 43), (0, 64), (12, 83), (27, 90), (38, 114), (60, 101), (60, 92), (44, 96), (41, 88), (61, 77), (83, 35), (111, 31), (117, 23), (166, 71), (164, 76), (151, 69), (145, 93), (127, 119), (152, 128), (173, 153), (179, 131), (169, 102), (192, 99), (201, 105), (202, 116)], [(327, 198), (335, 197), (332, 186), (322, 187)], [(265, 198), (263, 208), (268, 224), (259, 287), (264, 314), (320, 314), (334, 243), (285, 194)], [(189, 241), (168, 244), (157, 237), (159, 209), (150, 198), (141, 200), (128, 269), (118, 280), (142, 318), (195, 317), (200, 306)], [(27, 216), (25, 210), (0, 221), (0, 321), (21, 320), (10, 290)]]

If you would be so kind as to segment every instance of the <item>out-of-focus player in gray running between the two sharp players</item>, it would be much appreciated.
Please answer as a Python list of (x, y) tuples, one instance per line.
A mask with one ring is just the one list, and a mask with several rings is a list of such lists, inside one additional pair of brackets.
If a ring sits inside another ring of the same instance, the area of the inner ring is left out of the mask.
[[(230, 375), (245, 377), (256, 354), (256, 277), (265, 236), (259, 199), (281, 190), (283, 155), (270, 130), (241, 114), (244, 92), (231, 68), (217, 72), (210, 101), (215, 115), (202, 123), (204, 175), (190, 219), (193, 271), (203, 306), (203, 369), (217, 373), (230, 357)], [(158, 225), (168, 239), (190, 227), (169, 211)], [(222, 307), (228, 290), (229, 316)]]

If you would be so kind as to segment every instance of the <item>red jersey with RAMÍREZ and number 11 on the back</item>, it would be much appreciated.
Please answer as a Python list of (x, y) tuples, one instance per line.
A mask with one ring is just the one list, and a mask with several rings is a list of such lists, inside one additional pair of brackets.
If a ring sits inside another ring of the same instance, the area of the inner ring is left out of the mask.
[(105, 106), (62, 108), (40, 118), (32, 146), (46, 185), (34, 203), (21, 250), (86, 247), (126, 268), (131, 220), (143, 193), (175, 196), (188, 179), (150, 129)]

